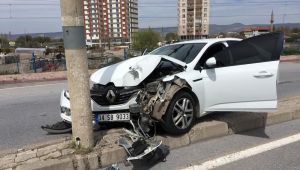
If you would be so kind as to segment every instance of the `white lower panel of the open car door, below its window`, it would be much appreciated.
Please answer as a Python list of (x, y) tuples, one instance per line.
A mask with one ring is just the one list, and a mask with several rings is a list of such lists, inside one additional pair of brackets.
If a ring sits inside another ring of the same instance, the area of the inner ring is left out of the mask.
[[(203, 70), (205, 111), (274, 111), (278, 65), (272, 61)], [(259, 76), (264, 73), (270, 76)]]

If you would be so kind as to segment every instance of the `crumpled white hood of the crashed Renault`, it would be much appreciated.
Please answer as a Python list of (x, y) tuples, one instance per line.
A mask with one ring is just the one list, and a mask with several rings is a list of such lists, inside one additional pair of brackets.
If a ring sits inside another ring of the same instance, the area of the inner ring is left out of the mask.
[(90, 80), (102, 85), (113, 83), (116, 87), (137, 86), (153, 72), (162, 59), (183, 67), (186, 65), (184, 62), (168, 56), (144, 55), (104, 67), (92, 74)]

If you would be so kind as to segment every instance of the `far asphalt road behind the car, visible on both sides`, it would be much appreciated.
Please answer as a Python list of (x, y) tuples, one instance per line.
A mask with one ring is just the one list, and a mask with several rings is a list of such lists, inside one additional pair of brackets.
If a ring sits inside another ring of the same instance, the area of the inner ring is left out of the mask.
[[(300, 63), (280, 65), (279, 98), (300, 95)], [(60, 138), (40, 126), (60, 121), (59, 98), (66, 81), (0, 85), (0, 150)]]

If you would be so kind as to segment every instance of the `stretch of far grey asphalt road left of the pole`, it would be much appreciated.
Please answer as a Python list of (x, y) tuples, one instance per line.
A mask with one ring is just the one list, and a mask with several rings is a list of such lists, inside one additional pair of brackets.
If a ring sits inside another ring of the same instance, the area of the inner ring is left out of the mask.
[(59, 96), (66, 87), (48, 83), (0, 89), (0, 150), (65, 136), (46, 135), (40, 128), (60, 120)]

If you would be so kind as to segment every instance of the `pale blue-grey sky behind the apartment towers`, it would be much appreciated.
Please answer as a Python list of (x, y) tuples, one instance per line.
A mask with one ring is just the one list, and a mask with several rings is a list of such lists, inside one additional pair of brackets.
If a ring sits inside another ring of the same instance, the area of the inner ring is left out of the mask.
[[(61, 31), (59, 2), (59, 0), (1, 0), (0, 33)], [(140, 28), (177, 26), (177, 0), (139, 0), (138, 2)], [(210, 24), (268, 24), (272, 10), (275, 23), (300, 22), (299, 0), (211, 0), (210, 2)]]

